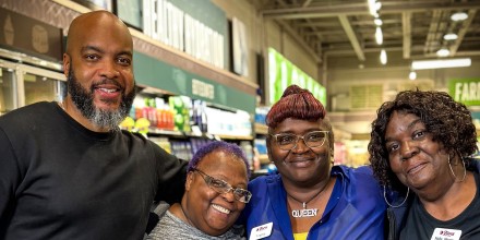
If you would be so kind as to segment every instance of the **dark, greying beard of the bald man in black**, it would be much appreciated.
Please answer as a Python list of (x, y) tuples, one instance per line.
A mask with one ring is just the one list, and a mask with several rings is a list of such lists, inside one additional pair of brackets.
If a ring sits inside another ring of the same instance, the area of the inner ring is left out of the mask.
[[(107, 80), (108, 82), (108, 80)], [(115, 81), (109, 81), (117, 84)], [(70, 68), (69, 75), (67, 77), (67, 89), (72, 97), (76, 108), (82, 115), (87, 118), (93, 124), (101, 129), (108, 129), (110, 131), (119, 130), (119, 124), (130, 111), (133, 99), (135, 98), (134, 87), (127, 95), (122, 93), (121, 103), (117, 110), (104, 110), (96, 108), (94, 105), (94, 85), (92, 85), (89, 92), (82, 87), (75, 77), (73, 69)]]

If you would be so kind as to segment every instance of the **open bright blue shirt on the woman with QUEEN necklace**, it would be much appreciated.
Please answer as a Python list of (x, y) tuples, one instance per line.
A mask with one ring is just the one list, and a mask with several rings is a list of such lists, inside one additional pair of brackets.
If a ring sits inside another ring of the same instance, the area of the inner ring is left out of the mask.
[[(370, 167), (334, 166), (334, 190), (325, 212), (309, 231), (308, 239), (384, 239), (386, 204)], [(247, 233), (272, 223), (272, 232), (263, 239), (293, 240), (287, 193), (280, 175), (262, 176), (249, 183), (252, 199), (243, 209)]]

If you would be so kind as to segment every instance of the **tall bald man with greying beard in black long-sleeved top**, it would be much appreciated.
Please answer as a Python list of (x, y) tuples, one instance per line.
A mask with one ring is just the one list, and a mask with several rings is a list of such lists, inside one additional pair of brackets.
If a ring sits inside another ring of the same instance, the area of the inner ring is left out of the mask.
[(154, 199), (181, 200), (187, 161), (118, 127), (135, 96), (129, 28), (80, 15), (63, 71), (62, 103), (0, 117), (0, 239), (142, 239)]

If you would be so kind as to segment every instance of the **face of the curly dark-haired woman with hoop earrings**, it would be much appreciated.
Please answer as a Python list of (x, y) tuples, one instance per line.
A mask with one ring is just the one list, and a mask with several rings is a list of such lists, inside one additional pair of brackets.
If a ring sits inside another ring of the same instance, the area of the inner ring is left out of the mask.
[(385, 131), (392, 171), (413, 191), (436, 191), (453, 183), (448, 155), (432, 141), (420, 118), (395, 111)]

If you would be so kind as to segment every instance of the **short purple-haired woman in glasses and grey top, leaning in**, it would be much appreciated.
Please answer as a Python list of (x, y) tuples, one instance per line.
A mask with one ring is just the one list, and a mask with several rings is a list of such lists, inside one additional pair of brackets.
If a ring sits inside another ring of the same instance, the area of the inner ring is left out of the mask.
[(189, 163), (181, 203), (171, 205), (147, 239), (242, 239), (233, 227), (252, 194), (250, 167), (239, 146), (212, 142)]

